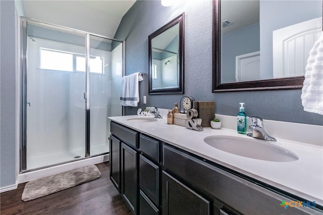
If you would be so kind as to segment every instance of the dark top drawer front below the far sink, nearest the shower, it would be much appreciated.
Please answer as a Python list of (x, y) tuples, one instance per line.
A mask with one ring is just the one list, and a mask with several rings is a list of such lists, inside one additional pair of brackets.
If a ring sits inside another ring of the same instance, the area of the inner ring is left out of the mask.
[(126, 128), (122, 125), (119, 125), (115, 122), (111, 122), (110, 129), (111, 129), (111, 134), (115, 135), (123, 142), (137, 148), (137, 135), (138, 135), (137, 132), (129, 128)]

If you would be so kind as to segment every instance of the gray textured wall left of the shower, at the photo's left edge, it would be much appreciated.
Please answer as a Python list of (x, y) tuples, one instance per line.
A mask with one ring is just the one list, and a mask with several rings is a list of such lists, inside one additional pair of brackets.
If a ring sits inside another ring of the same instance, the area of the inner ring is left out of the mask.
[(16, 31), (15, 2), (0, 1), (0, 186), (16, 183)]

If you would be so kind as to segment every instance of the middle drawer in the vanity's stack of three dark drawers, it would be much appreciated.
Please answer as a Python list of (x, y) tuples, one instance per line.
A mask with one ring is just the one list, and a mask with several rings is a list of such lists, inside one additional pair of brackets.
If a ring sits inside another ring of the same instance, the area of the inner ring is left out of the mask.
[(140, 154), (139, 156), (139, 187), (159, 205), (159, 167)]

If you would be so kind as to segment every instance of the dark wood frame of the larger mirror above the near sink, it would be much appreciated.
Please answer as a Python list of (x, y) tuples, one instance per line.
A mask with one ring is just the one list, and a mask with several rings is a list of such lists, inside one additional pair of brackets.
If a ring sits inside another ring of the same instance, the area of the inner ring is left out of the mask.
[(212, 92), (301, 89), (303, 87), (304, 76), (236, 83), (221, 83), (220, 4), (220, 0), (212, 1)]

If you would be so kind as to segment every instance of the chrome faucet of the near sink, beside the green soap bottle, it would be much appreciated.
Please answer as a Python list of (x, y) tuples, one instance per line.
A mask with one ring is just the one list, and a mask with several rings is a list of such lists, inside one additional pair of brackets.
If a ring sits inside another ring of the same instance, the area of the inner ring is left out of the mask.
[(252, 125), (249, 126), (249, 129), (252, 133), (248, 133), (247, 136), (254, 137), (263, 140), (277, 141), (276, 138), (270, 136), (265, 132), (263, 121), (260, 117), (250, 117)]

